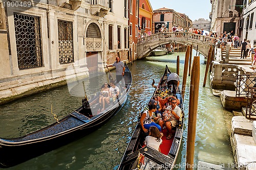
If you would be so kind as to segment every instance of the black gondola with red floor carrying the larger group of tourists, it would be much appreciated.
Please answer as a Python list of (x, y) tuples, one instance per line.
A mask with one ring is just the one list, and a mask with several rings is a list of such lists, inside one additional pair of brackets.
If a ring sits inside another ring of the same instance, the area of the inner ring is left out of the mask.
[[(169, 74), (170, 70), (166, 65), (164, 75), (162, 76), (160, 83), (154, 92), (154, 95), (160, 96), (162, 101), (168, 99), (168, 96), (173, 95), (166, 85), (166, 80)], [(175, 135), (171, 138), (171, 140), (166, 140), (166, 129), (163, 130), (163, 142), (160, 144), (161, 152), (159, 152), (151, 147), (143, 145), (145, 137), (148, 134), (144, 133), (140, 122), (138, 122), (118, 167), (119, 170), (173, 169), (175, 167), (175, 162), (181, 146), (181, 138), (183, 133), (184, 109), (180, 89), (177, 90), (176, 97), (180, 101), (179, 107), (182, 110), (182, 115), (179, 120), (179, 125), (177, 125), (175, 132), (173, 132)]]

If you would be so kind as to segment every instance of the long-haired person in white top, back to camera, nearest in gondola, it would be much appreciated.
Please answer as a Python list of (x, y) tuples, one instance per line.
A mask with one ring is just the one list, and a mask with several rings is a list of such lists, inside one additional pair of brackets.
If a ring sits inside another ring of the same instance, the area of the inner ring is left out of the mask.
[(145, 138), (145, 145), (161, 152), (160, 150), (160, 144), (162, 143), (161, 139), (162, 135), (160, 134), (160, 131), (157, 127), (152, 126), (150, 127), (150, 132), (148, 136)]

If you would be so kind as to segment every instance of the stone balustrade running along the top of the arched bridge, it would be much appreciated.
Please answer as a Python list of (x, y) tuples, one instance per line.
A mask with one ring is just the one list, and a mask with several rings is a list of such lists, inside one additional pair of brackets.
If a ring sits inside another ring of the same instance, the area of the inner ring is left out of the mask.
[(172, 38), (172, 39), (184, 39), (184, 40), (199, 40), (203, 41), (206, 43), (210, 43), (212, 45), (215, 45), (215, 40), (216, 38), (214, 37), (209, 37), (209, 36), (204, 36), (204, 35), (199, 35), (199, 34), (194, 34), (190, 32), (167, 32), (167, 33), (157, 33), (157, 34), (152, 34), (150, 36), (145, 36), (143, 38), (138, 39), (138, 44), (141, 44), (143, 42), (151, 41), (154, 39), (159, 39), (159, 38)]

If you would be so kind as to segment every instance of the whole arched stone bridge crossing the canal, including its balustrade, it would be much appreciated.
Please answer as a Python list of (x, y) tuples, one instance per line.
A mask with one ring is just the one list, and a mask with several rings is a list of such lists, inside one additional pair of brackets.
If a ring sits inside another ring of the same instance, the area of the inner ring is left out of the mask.
[(198, 49), (198, 52), (207, 58), (209, 47), (210, 45), (215, 46), (215, 40), (216, 38), (214, 37), (188, 32), (152, 34), (138, 40), (137, 56), (138, 59), (142, 59), (160, 45), (166, 43), (180, 43), (185, 45), (192, 45), (195, 50)]

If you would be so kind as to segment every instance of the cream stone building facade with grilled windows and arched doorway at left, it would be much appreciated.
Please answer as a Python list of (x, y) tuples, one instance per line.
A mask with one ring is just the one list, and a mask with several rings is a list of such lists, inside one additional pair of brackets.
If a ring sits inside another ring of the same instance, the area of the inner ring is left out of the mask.
[(127, 59), (128, 0), (7, 2), (0, 0), (1, 103), (103, 71), (118, 52)]

